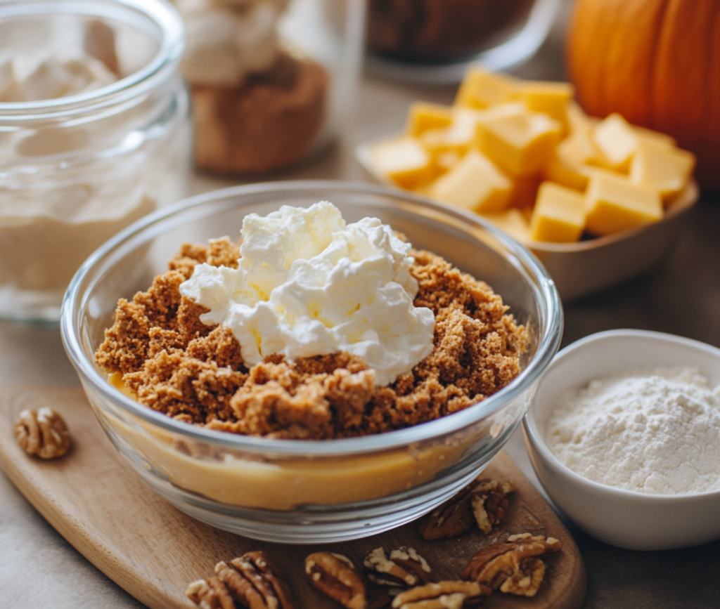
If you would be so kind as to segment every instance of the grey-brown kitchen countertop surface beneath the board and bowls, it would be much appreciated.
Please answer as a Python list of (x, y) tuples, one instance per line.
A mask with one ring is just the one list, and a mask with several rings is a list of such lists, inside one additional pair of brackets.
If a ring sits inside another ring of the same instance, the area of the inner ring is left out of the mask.
[[(536, 58), (513, 73), (525, 78), (564, 78), (562, 35), (566, 19), (567, 4)], [(353, 156), (357, 143), (397, 131), (404, 124), (410, 101), (447, 104), (453, 95), (453, 87), (429, 88), (365, 76), (354, 114), (338, 142), (303, 167), (266, 179), (366, 180)], [(194, 175), (192, 192), (237, 183)], [(690, 226), (660, 267), (628, 285), (565, 307), (563, 345), (596, 331), (640, 328), (680, 334), (720, 347), (719, 234), (720, 198), (703, 196)], [(0, 385), (4, 383), (79, 384), (57, 329), (0, 324)], [(519, 430), (510, 439), (508, 452), (539, 485)], [(720, 541), (683, 550), (640, 552), (613, 548), (569, 526), (588, 570), (585, 608), (717, 607)], [(672, 523), (667, 526), (672, 527)], [(0, 591), (0, 605), (9, 609), (144, 607), (73, 549), (2, 474)]]

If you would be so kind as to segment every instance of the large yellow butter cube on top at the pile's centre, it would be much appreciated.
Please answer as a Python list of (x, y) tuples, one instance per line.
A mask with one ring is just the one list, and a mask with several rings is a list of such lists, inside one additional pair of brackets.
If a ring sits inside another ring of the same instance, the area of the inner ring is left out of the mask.
[(513, 177), (539, 173), (552, 156), (561, 125), (546, 114), (522, 112), (483, 119), (477, 147)]

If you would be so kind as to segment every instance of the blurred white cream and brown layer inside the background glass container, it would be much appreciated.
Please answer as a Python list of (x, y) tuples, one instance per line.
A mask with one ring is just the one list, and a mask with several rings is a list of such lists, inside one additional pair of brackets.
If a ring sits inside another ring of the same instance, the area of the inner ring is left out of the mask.
[(186, 24), (195, 162), (262, 173), (310, 151), (325, 120), (325, 68), (279, 40), (288, 0), (176, 0)]

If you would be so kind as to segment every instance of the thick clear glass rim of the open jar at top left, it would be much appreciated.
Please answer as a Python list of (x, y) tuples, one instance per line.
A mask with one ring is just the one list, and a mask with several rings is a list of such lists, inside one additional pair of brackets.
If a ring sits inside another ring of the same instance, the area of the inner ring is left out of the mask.
[[(12, 8), (12, 4), (17, 8)], [(69, 3), (63, 0), (32, 0), (25, 3), (19, 0), (0, 0), (0, 17), (37, 17), (42, 13), (33, 13), (28, 10), (32, 5), (55, 6), (52, 12), (45, 14), (72, 14), (68, 7), (73, 4), (89, 7), (109, 6), (106, 11), (98, 12), (96, 17), (108, 17), (106, 12), (112, 10), (135, 10), (145, 17), (151, 19), (161, 30), (162, 39), (158, 52), (142, 68), (120, 78), (120, 80), (109, 85), (76, 93), (56, 99), (40, 99), (36, 101), (13, 101), (0, 102), (0, 111), (6, 113), (5, 119), (41, 119), (48, 116), (63, 116), (75, 112), (87, 111), (95, 107), (104, 107), (107, 104), (114, 104), (120, 101), (118, 93), (127, 92), (131, 97), (138, 96), (152, 88), (156, 81), (163, 81), (175, 70), (175, 64), (179, 62), (185, 47), (185, 29), (180, 15), (174, 7), (166, 0), (112, 0), (112, 6), (107, 0), (73, 0)], [(63, 4), (68, 6), (63, 7)], [(5, 9), (5, 10), (4, 10)], [(93, 16), (91, 12), (76, 13), (78, 16)], [(90, 106), (90, 107), (89, 107)]]

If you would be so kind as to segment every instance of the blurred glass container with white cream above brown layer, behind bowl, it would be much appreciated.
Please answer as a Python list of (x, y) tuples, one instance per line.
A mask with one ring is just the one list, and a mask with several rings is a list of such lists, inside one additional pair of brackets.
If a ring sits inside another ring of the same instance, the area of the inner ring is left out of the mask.
[(198, 168), (257, 175), (328, 145), (355, 97), (365, 0), (174, 1)]

